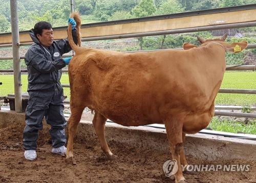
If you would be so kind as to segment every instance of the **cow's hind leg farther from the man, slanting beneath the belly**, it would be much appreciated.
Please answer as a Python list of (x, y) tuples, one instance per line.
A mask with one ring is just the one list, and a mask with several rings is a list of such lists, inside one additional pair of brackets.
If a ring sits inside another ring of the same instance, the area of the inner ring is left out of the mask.
[(95, 115), (93, 118), (93, 126), (99, 138), (101, 149), (103, 150), (103, 153), (106, 155), (106, 158), (108, 160), (114, 160), (115, 155), (113, 155), (113, 153), (110, 151), (108, 143), (106, 143), (106, 139), (105, 139), (105, 134), (104, 134), (105, 122), (106, 122), (106, 118), (103, 115), (101, 115), (98, 111), (95, 111)]

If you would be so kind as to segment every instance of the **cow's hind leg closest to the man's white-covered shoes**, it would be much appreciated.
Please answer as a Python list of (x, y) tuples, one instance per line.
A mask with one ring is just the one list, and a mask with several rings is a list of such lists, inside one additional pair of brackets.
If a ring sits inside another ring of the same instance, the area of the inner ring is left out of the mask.
[(70, 106), (71, 109), (71, 117), (69, 118), (69, 140), (66, 152), (66, 162), (72, 163), (73, 165), (76, 164), (73, 158), (73, 143), (74, 143), (74, 136), (76, 133), (77, 125), (81, 119), (82, 112), (84, 107), (73, 107)]

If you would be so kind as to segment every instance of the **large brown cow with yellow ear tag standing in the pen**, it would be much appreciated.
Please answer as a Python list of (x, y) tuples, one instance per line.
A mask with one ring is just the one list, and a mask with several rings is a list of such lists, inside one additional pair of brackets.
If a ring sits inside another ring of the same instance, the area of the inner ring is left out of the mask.
[(185, 134), (205, 128), (215, 111), (215, 97), (225, 72), (225, 51), (241, 51), (246, 41), (204, 40), (185, 43), (184, 49), (150, 53), (120, 53), (70, 45), (75, 56), (69, 64), (71, 117), (67, 160), (73, 161), (73, 140), (84, 108), (95, 110), (93, 125), (105, 155), (112, 159), (104, 136), (106, 119), (124, 125), (164, 124), (172, 158), (177, 160), (176, 182), (183, 182), (181, 164), (187, 165)]

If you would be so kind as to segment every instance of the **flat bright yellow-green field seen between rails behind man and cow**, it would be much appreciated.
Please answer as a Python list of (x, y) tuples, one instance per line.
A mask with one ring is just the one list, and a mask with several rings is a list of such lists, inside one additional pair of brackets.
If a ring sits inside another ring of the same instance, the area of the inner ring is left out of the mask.
[[(13, 75), (0, 75), (0, 96), (14, 93)], [(64, 73), (61, 77), (62, 84), (69, 84), (69, 76)], [(22, 75), (22, 90), (27, 91), (27, 75)], [(256, 89), (256, 72), (225, 72), (221, 88), (231, 89)], [(64, 89), (65, 95), (70, 96), (69, 88)], [(256, 95), (253, 94), (225, 94), (219, 93), (216, 104), (234, 104), (251, 106), (256, 104)]]

